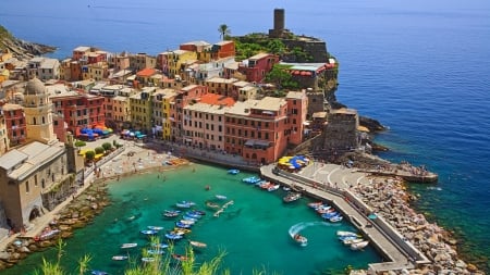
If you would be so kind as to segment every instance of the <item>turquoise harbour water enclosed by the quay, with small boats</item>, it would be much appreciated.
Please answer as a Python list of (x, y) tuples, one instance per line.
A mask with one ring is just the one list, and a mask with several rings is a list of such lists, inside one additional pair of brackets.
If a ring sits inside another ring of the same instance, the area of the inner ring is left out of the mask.
[[(68, 241), (65, 262), (70, 264), (65, 268), (74, 271), (73, 263), (88, 253), (93, 257), (93, 268), (123, 274), (125, 263), (111, 261), (112, 255), (123, 252), (121, 243), (146, 246), (148, 238), (139, 230), (148, 225), (173, 228), (174, 220), (162, 217), (161, 212), (182, 200), (196, 202), (196, 208), (206, 210), (207, 215), (193, 226), (185, 239), (176, 242), (175, 251), (184, 253), (189, 239), (206, 242), (208, 248), (196, 251), (197, 262), (208, 261), (224, 250), (228, 254), (223, 266), (232, 274), (252, 274), (253, 270), (326, 274), (327, 271), (342, 271), (347, 265), (367, 268), (368, 263), (381, 261), (372, 248), (351, 251), (343, 246), (335, 237), (336, 230), (352, 230), (354, 227), (345, 222), (323, 223), (307, 207), (309, 200), (306, 198), (285, 204), (282, 189), (268, 192), (241, 182), (252, 174), (233, 176), (222, 167), (193, 167), (164, 172), (164, 176), (145, 174), (110, 184), (113, 203), (91, 225), (77, 230)], [(207, 191), (206, 185), (211, 186), (211, 190)], [(216, 195), (234, 201), (219, 217), (205, 207), (205, 202), (213, 200)], [(308, 238), (308, 246), (299, 247), (291, 239), (289, 232), (294, 228)], [(139, 259), (139, 252), (140, 249), (134, 249), (131, 257)], [(29, 257), (1, 274), (29, 274), (39, 265), (41, 255), (52, 258), (53, 251)]]

